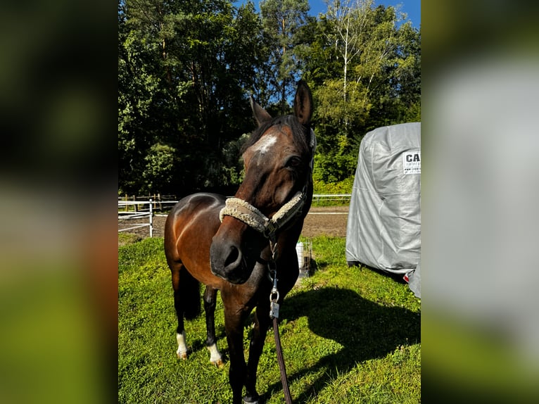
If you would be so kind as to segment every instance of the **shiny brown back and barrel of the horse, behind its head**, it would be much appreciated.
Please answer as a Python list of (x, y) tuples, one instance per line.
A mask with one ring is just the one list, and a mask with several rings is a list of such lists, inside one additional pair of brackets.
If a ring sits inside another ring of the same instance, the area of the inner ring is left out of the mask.
[(171, 270), (183, 265), (204, 284), (218, 286), (220, 278), (210, 271), (210, 246), (221, 224), (225, 197), (199, 193), (182, 198), (165, 222), (165, 256)]

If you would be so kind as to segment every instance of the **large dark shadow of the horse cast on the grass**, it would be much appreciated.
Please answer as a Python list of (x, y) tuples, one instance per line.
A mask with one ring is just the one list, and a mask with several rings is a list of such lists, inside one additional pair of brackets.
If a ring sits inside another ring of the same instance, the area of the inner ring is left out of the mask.
[[(343, 348), (320, 358), (312, 367), (288, 374), (288, 381), (294, 381), (324, 370), (322, 376), (304, 385), (296, 403), (316, 396), (328, 381), (349, 372), (358, 362), (383, 358), (398, 346), (421, 341), (419, 313), (367, 301), (350, 289), (322, 288), (286, 298), (281, 318), (291, 321), (303, 316), (307, 316), (311, 332), (336, 341)], [(286, 347), (283, 349), (286, 362)], [(281, 389), (280, 381), (272, 384), (262, 399), (267, 400)]]

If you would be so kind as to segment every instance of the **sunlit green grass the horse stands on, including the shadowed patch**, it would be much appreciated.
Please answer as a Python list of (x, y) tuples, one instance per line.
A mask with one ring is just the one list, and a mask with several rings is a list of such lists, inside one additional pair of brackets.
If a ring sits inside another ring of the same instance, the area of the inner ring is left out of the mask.
[[(281, 306), (281, 343), (294, 403), (419, 403), (420, 301), (405, 284), (348, 268), (345, 239), (312, 239), (315, 273)], [(186, 322), (188, 360), (177, 360), (176, 318), (163, 239), (118, 249), (118, 402), (229, 403), (228, 363), (210, 365), (203, 315)], [(218, 345), (227, 355), (222, 302)], [(250, 324), (246, 324), (247, 355)], [(272, 332), (258, 392), (283, 403)]]

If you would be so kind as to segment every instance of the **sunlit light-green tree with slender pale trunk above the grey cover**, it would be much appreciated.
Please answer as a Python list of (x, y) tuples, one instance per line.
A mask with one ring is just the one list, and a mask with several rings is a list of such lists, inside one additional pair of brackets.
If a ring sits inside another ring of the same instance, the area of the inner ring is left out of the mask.
[(420, 37), (395, 8), (372, 0), (332, 1), (310, 46), (318, 153), (324, 181), (353, 175), (360, 141), (375, 127), (417, 120)]

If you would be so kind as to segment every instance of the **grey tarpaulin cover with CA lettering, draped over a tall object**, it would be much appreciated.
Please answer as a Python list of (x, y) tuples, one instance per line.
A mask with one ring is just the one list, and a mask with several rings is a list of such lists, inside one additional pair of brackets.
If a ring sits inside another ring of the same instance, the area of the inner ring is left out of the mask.
[(421, 123), (379, 127), (365, 134), (348, 213), (346, 260), (407, 274), (418, 297), (420, 199)]

